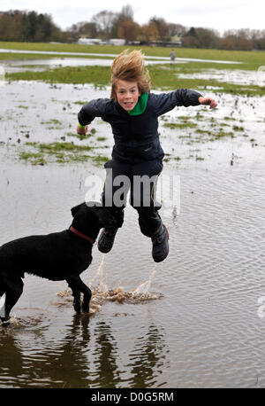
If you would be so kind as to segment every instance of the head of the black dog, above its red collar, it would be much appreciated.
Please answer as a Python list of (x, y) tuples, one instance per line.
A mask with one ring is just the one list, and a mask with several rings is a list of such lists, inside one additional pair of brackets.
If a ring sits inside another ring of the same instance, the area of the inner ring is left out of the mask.
[(117, 221), (107, 207), (97, 202), (84, 202), (72, 207), (72, 227), (89, 237), (96, 238), (102, 228), (111, 229), (117, 226)]

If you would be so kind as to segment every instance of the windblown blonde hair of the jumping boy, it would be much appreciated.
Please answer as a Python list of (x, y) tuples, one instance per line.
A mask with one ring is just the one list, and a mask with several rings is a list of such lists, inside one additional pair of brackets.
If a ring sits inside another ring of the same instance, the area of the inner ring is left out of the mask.
[(144, 68), (144, 54), (142, 51), (128, 50), (121, 52), (113, 61), (111, 66), (111, 93), (110, 98), (117, 101), (117, 81), (137, 82), (141, 93), (148, 93), (150, 90), (150, 76), (148, 69)]

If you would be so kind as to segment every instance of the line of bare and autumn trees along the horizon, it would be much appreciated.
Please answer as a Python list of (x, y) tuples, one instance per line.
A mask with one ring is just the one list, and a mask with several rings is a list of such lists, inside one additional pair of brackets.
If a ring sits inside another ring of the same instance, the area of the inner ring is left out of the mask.
[(170, 43), (180, 39), (187, 48), (222, 50), (265, 50), (265, 30), (231, 29), (220, 35), (215, 29), (184, 27), (152, 17), (140, 25), (133, 19), (133, 8), (127, 4), (121, 12), (103, 10), (89, 21), (80, 21), (66, 30), (57, 27), (49, 14), (37, 12), (0, 12), (0, 40), (22, 42), (77, 42), (79, 37), (123, 38), (126, 43)]

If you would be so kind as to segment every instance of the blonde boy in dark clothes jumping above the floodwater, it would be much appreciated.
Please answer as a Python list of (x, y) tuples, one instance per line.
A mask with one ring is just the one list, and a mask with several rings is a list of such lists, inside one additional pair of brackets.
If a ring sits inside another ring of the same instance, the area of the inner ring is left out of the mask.
[[(151, 93), (144, 55), (141, 51), (128, 53), (126, 50), (114, 59), (111, 66), (110, 98), (91, 100), (79, 111), (79, 135), (85, 136), (87, 124), (95, 117), (101, 117), (110, 123), (115, 142), (112, 160), (104, 166), (107, 176), (102, 204), (117, 219), (117, 228), (102, 230), (98, 239), (102, 253), (110, 252), (117, 230), (124, 221), (125, 204), (118, 204), (113, 197), (120, 187), (115, 184), (115, 179), (126, 176), (129, 183), (124, 194), (131, 188), (130, 204), (138, 211), (140, 231), (152, 240), (154, 261), (162, 262), (167, 257), (169, 233), (158, 214), (161, 206), (155, 202), (155, 185), (163, 170), (164, 156), (157, 129), (158, 117), (177, 105), (209, 105), (214, 108), (217, 104), (213, 98), (203, 98), (200, 93), (188, 89)], [(149, 178), (148, 186), (142, 185), (137, 193), (133, 187), (136, 176)]]

